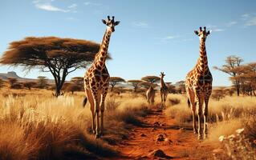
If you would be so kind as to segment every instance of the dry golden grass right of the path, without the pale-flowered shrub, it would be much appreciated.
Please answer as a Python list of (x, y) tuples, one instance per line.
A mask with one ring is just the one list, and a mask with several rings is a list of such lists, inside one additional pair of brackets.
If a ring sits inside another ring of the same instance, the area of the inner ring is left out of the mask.
[[(187, 106), (186, 97), (183, 95), (169, 95), (169, 98), (179, 98), (180, 103), (169, 106), (165, 114), (175, 118), (177, 125), (191, 126), (191, 110)], [(256, 116), (256, 98), (254, 97), (229, 97), (220, 101), (210, 99), (209, 102), (209, 140), (218, 141), (221, 135), (229, 135), (241, 127), (246, 127), (246, 133), (251, 137), (256, 134), (253, 125)], [(253, 137), (255, 138), (255, 137)]]

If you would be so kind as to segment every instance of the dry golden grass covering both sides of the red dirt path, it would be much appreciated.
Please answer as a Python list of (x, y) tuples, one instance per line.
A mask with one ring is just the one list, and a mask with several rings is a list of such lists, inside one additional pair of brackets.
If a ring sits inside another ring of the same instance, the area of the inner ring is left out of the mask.
[[(1, 159), (115, 157), (118, 151), (112, 145), (127, 139), (129, 129), (134, 125), (140, 126), (140, 118), (148, 114), (144, 94), (109, 93), (105, 111), (106, 132), (103, 138), (95, 140), (91, 134), (91, 111), (88, 104), (82, 107), (83, 92), (59, 98), (52, 96), (51, 92), (34, 88), (13, 90), (9, 87), (0, 90)], [(161, 103), (159, 93), (156, 94), (155, 103)], [(175, 119), (175, 125), (191, 127), (191, 110), (185, 94), (169, 94), (166, 106), (165, 114)], [(205, 143), (214, 143), (221, 148), (222, 154), (214, 153), (215, 158), (239, 159), (241, 154), (254, 158), (250, 156), (255, 152), (254, 146), (251, 147), (256, 139), (255, 116), (255, 97), (226, 95), (220, 99), (211, 98), (209, 139)], [(245, 130), (237, 136), (236, 130), (240, 128)], [(229, 140), (230, 135), (237, 136), (231, 136), (234, 142)], [(221, 136), (225, 141), (219, 141)], [(243, 147), (245, 145), (246, 148)], [(185, 157), (185, 154), (189, 154), (189, 151), (181, 151), (181, 157)], [(246, 159), (246, 156), (243, 158)]]

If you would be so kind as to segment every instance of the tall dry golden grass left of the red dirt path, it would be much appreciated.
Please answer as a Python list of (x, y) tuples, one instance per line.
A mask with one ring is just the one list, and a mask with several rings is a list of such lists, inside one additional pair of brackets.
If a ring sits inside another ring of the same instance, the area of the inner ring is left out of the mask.
[(48, 90), (2, 91), (5, 94), (0, 95), (0, 159), (112, 157), (116, 151), (107, 142), (112, 144), (124, 138), (128, 124), (139, 125), (139, 117), (147, 111), (143, 97), (108, 97), (106, 136), (95, 141), (90, 134), (91, 111), (88, 104), (82, 107), (83, 93), (54, 98)]

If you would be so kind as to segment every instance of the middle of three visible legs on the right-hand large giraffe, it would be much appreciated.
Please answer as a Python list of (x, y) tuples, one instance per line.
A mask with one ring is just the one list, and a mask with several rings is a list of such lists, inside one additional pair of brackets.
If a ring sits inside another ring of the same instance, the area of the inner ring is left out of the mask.
[(203, 130), (201, 127), (201, 123), (204, 121), (204, 117), (202, 114), (202, 101), (201, 101), (201, 93), (197, 91), (196, 93), (196, 99), (197, 99), (197, 117), (198, 117), (198, 139), (202, 139)]

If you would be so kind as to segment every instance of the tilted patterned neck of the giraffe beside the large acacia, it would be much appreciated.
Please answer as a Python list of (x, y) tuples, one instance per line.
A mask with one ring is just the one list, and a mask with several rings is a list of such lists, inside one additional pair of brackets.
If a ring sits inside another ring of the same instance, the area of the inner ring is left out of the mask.
[(100, 50), (98, 54), (95, 55), (95, 66), (98, 66), (100, 68), (103, 68), (105, 66), (106, 59), (108, 57), (108, 44), (110, 41), (112, 31), (106, 30), (104, 34), (104, 38), (100, 45)]

